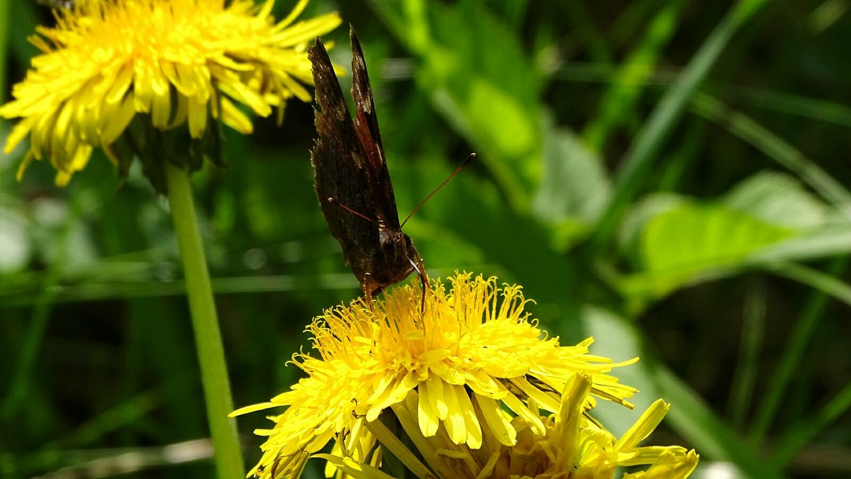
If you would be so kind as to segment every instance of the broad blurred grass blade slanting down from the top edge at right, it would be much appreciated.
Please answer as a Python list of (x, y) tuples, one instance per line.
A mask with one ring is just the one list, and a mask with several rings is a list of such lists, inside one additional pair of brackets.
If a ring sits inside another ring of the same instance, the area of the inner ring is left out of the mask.
[(716, 26), (675, 83), (656, 105), (636, 140), (626, 152), (615, 177), (615, 194), (591, 240), (595, 257), (608, 245), (615, 226), (620, 221), (629, 202), (638, 192), (650, 171), (651, 163), (660, 151), (663, 142), (671, 134), (677, 120), (682, 117), (688, 101), (715, 64), (734, 33), (747, 20), (762, 9), (768, 0), (741, 0)]

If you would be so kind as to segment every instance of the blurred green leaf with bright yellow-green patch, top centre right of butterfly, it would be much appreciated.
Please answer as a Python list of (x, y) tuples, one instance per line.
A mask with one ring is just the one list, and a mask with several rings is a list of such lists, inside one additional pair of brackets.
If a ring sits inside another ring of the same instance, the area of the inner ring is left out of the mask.
[(511, 204), (528, 207), (540, 177), (541, 78), (517, 33), (477, 3), (373, 6), (418, 58), (414, 79), (437, 111), (471, 141)]

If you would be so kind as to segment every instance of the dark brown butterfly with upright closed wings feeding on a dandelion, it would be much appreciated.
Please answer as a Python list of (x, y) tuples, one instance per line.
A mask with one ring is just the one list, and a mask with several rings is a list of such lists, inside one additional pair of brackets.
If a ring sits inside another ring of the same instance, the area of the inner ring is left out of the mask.
[(425, 294), (423, 260), (399, 225), (363, 51), (354, 29), (349, 36), (354, 119), (322, 41), (317, 38), (307, 52), (319, 104), (319, 138), (311, 151), (314, 187), (325, 221), (343, 247), (343, 256), (361, 283), (367, 304), (373, 295), (414, 271)]

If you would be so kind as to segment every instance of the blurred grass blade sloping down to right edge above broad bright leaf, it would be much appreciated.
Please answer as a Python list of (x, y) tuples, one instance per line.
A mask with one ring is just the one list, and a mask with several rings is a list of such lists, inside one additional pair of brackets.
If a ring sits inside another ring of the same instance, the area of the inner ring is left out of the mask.
[(768, 157), (797, 174), (821, 197), (831, 202), (842, 214), (851, 219), (851, 193), (794, 146), (751, 118), (738, 111), (730, 110), (722, 102), (707, 94), (695, 95), (694, 109), (699, 115), (728, 128), (730, 133), (756, 146)]

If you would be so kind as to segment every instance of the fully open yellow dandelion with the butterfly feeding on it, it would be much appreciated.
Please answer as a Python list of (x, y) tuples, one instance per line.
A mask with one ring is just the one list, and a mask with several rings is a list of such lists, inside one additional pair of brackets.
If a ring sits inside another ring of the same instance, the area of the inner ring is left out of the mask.
[[(372, 308), (363, 302), (325, 311), (308, 327), (317, 357), (294, 356), (308, 377), (288, 392), (232, 415), (288, 406), (271, 418), (263, 457), (254, 473), (297, 475), (306, 459), (332, 438), (340, 447), (361, 443), (387, 408), (409, 405), (423, 436), (445, 431), (454, 444), (477, 449), (486, 437), (517, 443), (518, 422), (544, 435), (538, 408), (556, 412), (561, 391), (576, 373), (591, 378), (591, 395), (620, 402), (636, 390), (609, 375), (612, 363), (592, 356), (587, 339), (561, 346), (524, 311), (521, 288), (498, 288), (496, 278), (450, 277), (447, 293), (436, 282), (420, 311), (417, 285), (396, 288)], [(419, 398), (410, 402), (411, 397)], [(589, 407), (594, 399), (588, 396)], [(530, 407), (529, 404), (535, 406)], [(363, 457), (362, 457), (363, 459)]]

